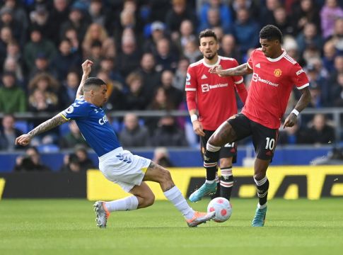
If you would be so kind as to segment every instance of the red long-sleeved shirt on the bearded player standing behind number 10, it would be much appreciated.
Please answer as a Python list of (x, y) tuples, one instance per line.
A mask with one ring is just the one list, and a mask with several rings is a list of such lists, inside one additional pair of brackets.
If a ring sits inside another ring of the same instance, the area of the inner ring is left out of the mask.
[[(233, 58), (221, 56), (214, 65), (218, 64), (223, 69), (238, 66)], [(187, 70), (187, 106), (189, 110), (197, 108), (199, 121), (205, 130), (216, 130), (221, 123), (237, 113), (235, 89), (243, 102), (247, 94), (243, 77), (219, 77), (211, 74), (209, 69), (214, 65), (199, 60), (190, 64)]]

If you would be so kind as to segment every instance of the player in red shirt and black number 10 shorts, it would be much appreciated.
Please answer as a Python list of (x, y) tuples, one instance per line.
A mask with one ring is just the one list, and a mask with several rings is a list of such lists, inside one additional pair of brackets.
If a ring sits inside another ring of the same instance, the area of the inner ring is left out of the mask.
[(233, 115), (214, 132), (207, 142), (204, 159), (207, 164), (218, 160), (217, 151), (228, 142), (252, 136), (257, 157), (254, 181), (259, 203), (252, 220), (253, 227), (262, 227), (267, 212), (269, 181), (266, 173), (277, 145), (280, 120), (286, 111), (289, 95), (295, 85), (301, 91), (296, 107), (287, 116), (284, 128), (292, 127), (298, 114), (310, 102), (308, 77), (301, 66), (281, 48), (282, 33), (276, 26), (267, 25), (260, 30), (261, 47), (254, 50), (248, 63), (223, 69), (220, 65), (210, 69), (220, 77), (252, 73), (248, 98), (241, 113)]

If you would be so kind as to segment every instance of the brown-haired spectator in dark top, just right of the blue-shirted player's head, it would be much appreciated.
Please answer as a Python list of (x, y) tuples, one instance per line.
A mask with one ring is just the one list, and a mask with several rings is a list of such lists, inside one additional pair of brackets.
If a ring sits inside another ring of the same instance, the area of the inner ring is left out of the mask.
[(143, 77), (132, 72), (126, 79), (129, 92), (125, 95), (124, 110), (144, 110), (149, 103), (144, 93)]

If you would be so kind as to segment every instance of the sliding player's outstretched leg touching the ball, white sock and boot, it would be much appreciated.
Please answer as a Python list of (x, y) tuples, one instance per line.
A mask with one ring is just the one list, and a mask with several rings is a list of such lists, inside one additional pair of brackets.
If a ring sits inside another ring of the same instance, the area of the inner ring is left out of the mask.
[(165, 198), (173, 203), (175, 208), (182, 213), (189, 227), (197, 227), (197, 225), (207, 222), (214, 217), (212, 212), (194, 211), (182, 196), (179, 188), (175, 186), (170, 172), (162, 166), (151, 162), (144, 176), (144, 181), (155, 181), (160, 184)]

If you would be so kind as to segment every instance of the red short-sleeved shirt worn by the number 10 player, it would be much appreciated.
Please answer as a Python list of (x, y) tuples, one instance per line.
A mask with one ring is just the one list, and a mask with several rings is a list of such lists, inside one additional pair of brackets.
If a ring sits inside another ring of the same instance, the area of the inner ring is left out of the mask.
[(242, 113), (267, 128), (277, 129), (293, 86), (305, 88), (309, 85), (308, 77), (286, 51), (271, 59), (260, 48), (256, 49), (250, 55), (248, 66), (253, 74)]

